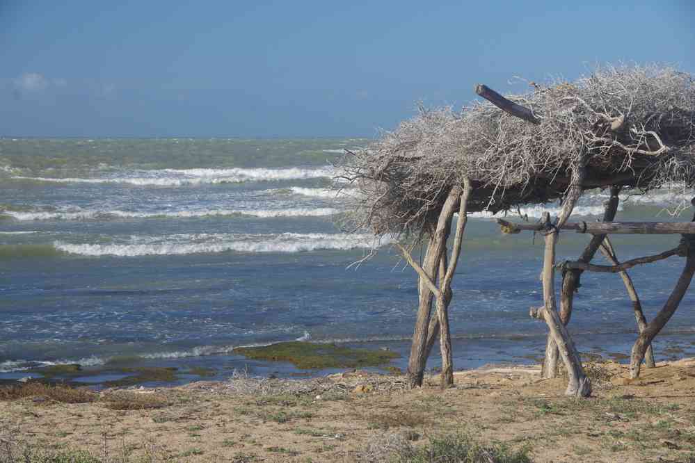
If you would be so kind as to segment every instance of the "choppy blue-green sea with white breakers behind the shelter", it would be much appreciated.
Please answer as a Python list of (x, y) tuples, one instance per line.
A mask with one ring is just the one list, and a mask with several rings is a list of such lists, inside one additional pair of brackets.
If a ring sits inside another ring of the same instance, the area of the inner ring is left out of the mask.
[[(0, 377), (32, 366), (113, 359), (290, 374), (250, 362), (237, 346), (306, 339), (388, 347), (407, 362), (417, 308), (415, 272), (388, 240), (375, 245), (334, 225), (328, 190), (344, 149), (368, 140), (0, 139)], [(349, 191), (348, 193), (349, 194)], [(602, 213), (604, 192), (577, 208)], [(620, 220), (690, 220), (664, 211), (689, 195), (626, 197)], [(522, 209), (529, 217), (557, 204)], [(559, 259), (589, 236), (562, 234)], [(546, 329), (541, 239), (500, 234), (471, 216), (450, 308), (456, 368), (531, 362)], [(621, 259), (676, 245), (677, 236), (615, 236)], [(668, 297), (682, 259), (630, 270), (648, 319)], [(659, 341), (659, 358), (695, 355), (694, 290)], [(585, 274), (570, 332), (580, 350), (629, 352), (636, 327), (621, 279)], [(671, 352), (671, 354), (669, 354)], [(430, 366), (438, 364), (433, 355)]]

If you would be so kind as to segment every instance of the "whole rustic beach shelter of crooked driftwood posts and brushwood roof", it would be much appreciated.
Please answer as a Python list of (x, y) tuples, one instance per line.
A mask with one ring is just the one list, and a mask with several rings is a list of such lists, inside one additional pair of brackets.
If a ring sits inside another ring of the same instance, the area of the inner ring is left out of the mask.
[[(497, 213), (561, 200), (557, 218), (545, 215), (538, 224), (500, 220), (500, 226), (505, 232), (533, 230), (545, 235), (544, 304), (532, 309), (532, 316), (545, 320), (549, 329), (543, 375), (556, 375), (561, 357), (570, 395), (591, 393), (566, 329), (584, 271), (619, 273), (625, 282), (639, 327), (632, 349), (633, 376), (639, 375), (651, 341), (676, 311), (695, 272), (695, 222), (613, 221), (622, 190), (689, 192), (695, 186), (693, 77), (670, 67), (621, 66), (597, 69), (575, 82), (543, 88), (532, 83), (532, 87), (525, 95), (503, 97), (477, 86), (477, 94), (487, 101), (460, 113), (451, 108), (421, 109), (396, 130), (382, 133), (367, 149), (349, 152), (344, 159), (341, 180), (358, 190), (350, 196), (347, 222), (353, 229), (371, 229), (376, 236), (395, 236), (395, 246), (420, 277), (408, 362), (412, 387), (422, 384), (436, 339), (442, 354), (442, 387), (453, 384), (447, 311), (468, 213)], [(611, 192), (603, 221), (571, 222), (577, 200), (593, 188)], [(685, 204), (674, 207), (685, 209)], [(448, 252), (455, 213), (458, 220)], [(577, 261), (557, 264), (557, 237), (567, 230), (592, 238)], [(620, 263), (608, 238), (616, 233), (675, 233), (682, 234), (682, 241), (674, 250)], [(426, 243), (421, 263), (411, 255), (419, 243)], [(612, 266), (591, 264), (599, 250)], [(671, 256), (686, 257), (685, 269), (663, 309), (647, 323), (627, 270)], [(556, 270), (563, 278), (559, 304)], [(431, 315), (433, 301), (436, 316)], [(653, 364), (650, 352), (648, 364)]]

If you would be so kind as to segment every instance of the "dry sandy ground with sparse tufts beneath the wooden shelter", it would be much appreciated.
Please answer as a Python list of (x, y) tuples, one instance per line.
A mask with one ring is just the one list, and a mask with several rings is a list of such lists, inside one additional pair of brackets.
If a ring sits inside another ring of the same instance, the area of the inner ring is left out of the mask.
[(437, 377), (406, 390), (403, 377), (355, 372), (120, 392), (170, 404), (158, 409), (23, 398), (0, 402), (0, 439), (111, 461), (353, 462), (394, 435), (417, 446), (468, 432), (526, 446), (536, 462), (695, 461), (695, 359), (644, 368), (633, 382), (625, 365), (586, 368), (588, 399), (565, 397), (563, 378), (541, 380), (535, 368), (459, 372), (446, 391)]

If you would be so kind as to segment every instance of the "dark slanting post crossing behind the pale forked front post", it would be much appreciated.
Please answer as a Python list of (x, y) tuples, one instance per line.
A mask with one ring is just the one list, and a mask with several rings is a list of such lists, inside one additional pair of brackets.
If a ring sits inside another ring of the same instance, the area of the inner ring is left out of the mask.
[[(611, 187), (611, 196), (605, 204), (603, 211), (603, 222), (611, 222), (618, 211), (618, 201), (621, 188), (619, 186)], [(594, 235), (591, 241), (584, 248), (584, 252), (577, 259), (580, 262), (590, 262), (593, 259), (598, 247), (601, 245), (605, 235)], [(570, 270), (562, 274), (562, 288), (560, 291), (560, 320), (564, 325), (570, 322), (572, 309), (574, 304), (575, 292), (579, 289), (580, 279), (584, 270)], [(541, 314), (539, 314), (541, 315)], [(543, 359), (543, 368), (541, 375), (543, 377), (555, 377), (557, 375), (557, 358), (559, 352), (552, 336), (548, 336), (548, 341), (545, 345), (545, 357)]]

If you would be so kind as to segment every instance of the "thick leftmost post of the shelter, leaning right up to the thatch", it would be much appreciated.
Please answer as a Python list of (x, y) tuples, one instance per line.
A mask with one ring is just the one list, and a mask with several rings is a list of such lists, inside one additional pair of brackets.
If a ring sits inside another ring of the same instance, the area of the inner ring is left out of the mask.
[[(429, 277), (433, 277), (436, 274), (440, 259), (442, 258), (442, 252), (444, 252), (447, 243), (447, 238), (449, 238), (452, 217), (454, 216), (456, 204), (458, 204), (458, 198), (461, 196), (461, 192), (462, 189), (460, 187), (454, 187), (449, 191), (449, 195), (440, 211), (436, 229), (429, 239), (422, 265), (424, 273), (429, 275)], [(418, 284), (418, 292), (420, 294), (420, 300), (417, 308), (415, 330), (413, 331), (413, 343), (410, 346), (410, 359), (408, 359), (407, 377), (409, 387), (422, 386), (422, 377), (427, 361), (425, 354), (427, 332), (429, 330), (429, 320), (432, 310), (432, 291), (422, 275), (420, 276), (420, 283)]]

